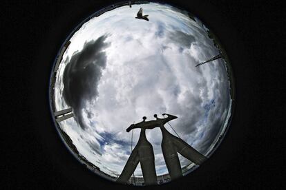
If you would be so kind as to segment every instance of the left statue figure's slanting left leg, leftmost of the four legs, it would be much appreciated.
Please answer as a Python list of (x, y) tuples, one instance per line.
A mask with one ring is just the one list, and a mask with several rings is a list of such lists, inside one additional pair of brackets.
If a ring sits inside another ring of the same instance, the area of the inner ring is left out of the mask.
[(116, 181), (121, 183), (126, 183), (131, 177), (134, 170), (136, 169), (138, 163), (139, 163), (139, 155), (137, 149), (135, 148), (133, 149), (131, 156), (129, 156), (122, 173), (120, 174), (119, 178), (117, 178)]

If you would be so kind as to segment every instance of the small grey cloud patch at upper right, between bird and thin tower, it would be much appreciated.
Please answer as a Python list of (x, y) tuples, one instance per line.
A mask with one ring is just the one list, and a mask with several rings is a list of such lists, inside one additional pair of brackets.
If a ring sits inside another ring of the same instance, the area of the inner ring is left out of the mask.
[(180, 45), (182, 48), (189, 48), (191, 47), (191, 43), (196, 41), (195, 36), (193, 36), (192, 34), (186, 34), (179, 30), (175, 32), (170, 32), (169, 39), (178, 43), (178, 45)]

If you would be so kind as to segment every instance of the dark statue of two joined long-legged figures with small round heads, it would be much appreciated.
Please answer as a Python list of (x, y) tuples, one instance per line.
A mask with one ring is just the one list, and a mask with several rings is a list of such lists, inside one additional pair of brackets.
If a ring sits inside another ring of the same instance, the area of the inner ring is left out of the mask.
[(181, 138), (173, 136), (173, 134), (169, 133), (164, 127), (165, 123), (178, 117), (172, 116), (171, 114), (162, 115), (167, 117), (158, 118), (157, 114), (155, 114), (154, 117), (156, 120), (145, 121), (146, 117), (144, 116), (142, 122), (132, 124), (126, 129), (126, 131), (129, 132), (131, 129), (140, 128), (140, 138), (131, 152), (131, 156), (128, 158), (122, 173), (119, 178), (117, 178), (117, 182), (126, 183), (140, 162), (145, 184), (157, 184), (154, 151), (151, 143), (146, 138), (146, 129), (160, 127), (162, 131), (162, 152), (171, 180), (182, 176), (178, 153), (191, 160), (191, 162), (194, 162), (196, 165), (201, 165), (202, 162), (206, 160), (207, 157), (200, 154), (196, 149), (193, 149), (193, 147), (187, 144), (187, 142), (184, 142)]

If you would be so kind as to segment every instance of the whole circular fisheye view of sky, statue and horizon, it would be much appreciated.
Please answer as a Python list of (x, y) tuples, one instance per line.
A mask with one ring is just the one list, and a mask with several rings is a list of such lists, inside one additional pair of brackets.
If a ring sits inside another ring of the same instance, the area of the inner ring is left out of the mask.
[(166, 3), (122, 1), (90, 15), (67, 37), (50, 78), (51, 113), (66, 147), (97, 175), (136, 186), (203, 165), (234, 107), (218, 37)]

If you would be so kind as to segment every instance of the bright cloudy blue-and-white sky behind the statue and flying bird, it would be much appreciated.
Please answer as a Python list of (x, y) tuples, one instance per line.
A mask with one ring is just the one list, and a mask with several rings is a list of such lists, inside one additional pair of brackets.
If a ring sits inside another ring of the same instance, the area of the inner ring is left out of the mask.
[[(149, 21), (135, 19), (137, 11)], [(59, 123), (79, 154), (108, 175), (119, 175), (140, 129), (133, 123), (153, 114), (178, 116), (171, 126), (201, 154), (209, 156), (231, 114), (225, 61), (195, 67), (219, 51), (200, 20), (160, 3), (123, 6), (82, 25), (73, 36), (56, 74), (55, 111), (73, 108)], [(169, 125), (166, 129), (175, 135)], [(146, 130), (158, 176), (168, 173), (160, 129)], [(179, 155), (181, 166), (191, 161)], [(135, 176), (142, 176), (140, 165)]]

